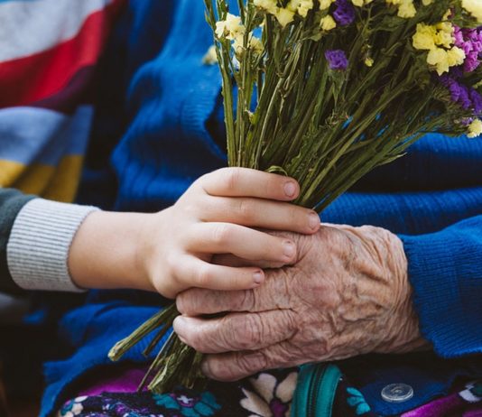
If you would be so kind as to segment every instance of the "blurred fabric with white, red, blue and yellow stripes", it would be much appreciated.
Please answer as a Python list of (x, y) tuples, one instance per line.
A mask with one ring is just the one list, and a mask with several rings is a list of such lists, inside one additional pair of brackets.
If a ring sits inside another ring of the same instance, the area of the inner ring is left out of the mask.
[(97, 60), (125, 0), (0, 0), (0, 187), (74, 198)]

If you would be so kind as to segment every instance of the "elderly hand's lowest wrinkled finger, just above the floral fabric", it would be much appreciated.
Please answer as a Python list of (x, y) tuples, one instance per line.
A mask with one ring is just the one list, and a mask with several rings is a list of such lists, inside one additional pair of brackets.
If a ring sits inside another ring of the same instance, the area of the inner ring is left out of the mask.
[(202, 371), (218, 381), (237, 381), (266, 369), (301, 365), (306, 360), (295, 357), (289, 340), (263, 349), (208, 355)]

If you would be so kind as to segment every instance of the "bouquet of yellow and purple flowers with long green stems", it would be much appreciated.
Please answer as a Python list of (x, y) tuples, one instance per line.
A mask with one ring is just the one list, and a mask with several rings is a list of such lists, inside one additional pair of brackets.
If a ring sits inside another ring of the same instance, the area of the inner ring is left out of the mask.
[[(221, 72), (230, 166), (290, 175), (319, 212), (423, 134), (482, 134), (481, 0), (205, 0)], [(202, 356), (168, 307), (153, 330), (149, 388), (202, 383)], [(144, 385), (144, 383), (143, 383)]]

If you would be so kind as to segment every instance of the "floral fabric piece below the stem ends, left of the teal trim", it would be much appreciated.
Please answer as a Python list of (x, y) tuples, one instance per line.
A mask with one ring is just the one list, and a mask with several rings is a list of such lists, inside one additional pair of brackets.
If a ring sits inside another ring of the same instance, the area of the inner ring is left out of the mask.
[[(128, 371), (131, 378), (111, 379), (104, 389), (95, 386), (65, 403), (58, 417), (290, 417), (296, 370), (264, 372), (239, 383), (209, 383), (200, 393), (179, 388), (168, 394), (126, 393), (126, 387), (140, 382), (142, 373)], [(110, 390), (124, 392), (109, 392)]]

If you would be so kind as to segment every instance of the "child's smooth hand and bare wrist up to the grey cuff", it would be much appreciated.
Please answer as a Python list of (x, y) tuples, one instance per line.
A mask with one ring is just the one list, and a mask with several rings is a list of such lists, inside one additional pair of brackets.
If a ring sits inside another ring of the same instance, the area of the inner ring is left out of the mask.
[(94, 212), (70, 248), (74, 281), (86, 288), (137, 288), (173, 298), (190, 287), (255, 288), (254, 266), (211, 263), (234, 255), (254, 264), (290, 264), (294, 243), (252, 227), (313, 234), (318, 215), (294, 206), (299, 186), (281, 175), (225, 168), (195, 181), (181, 199), (156, 214)]

